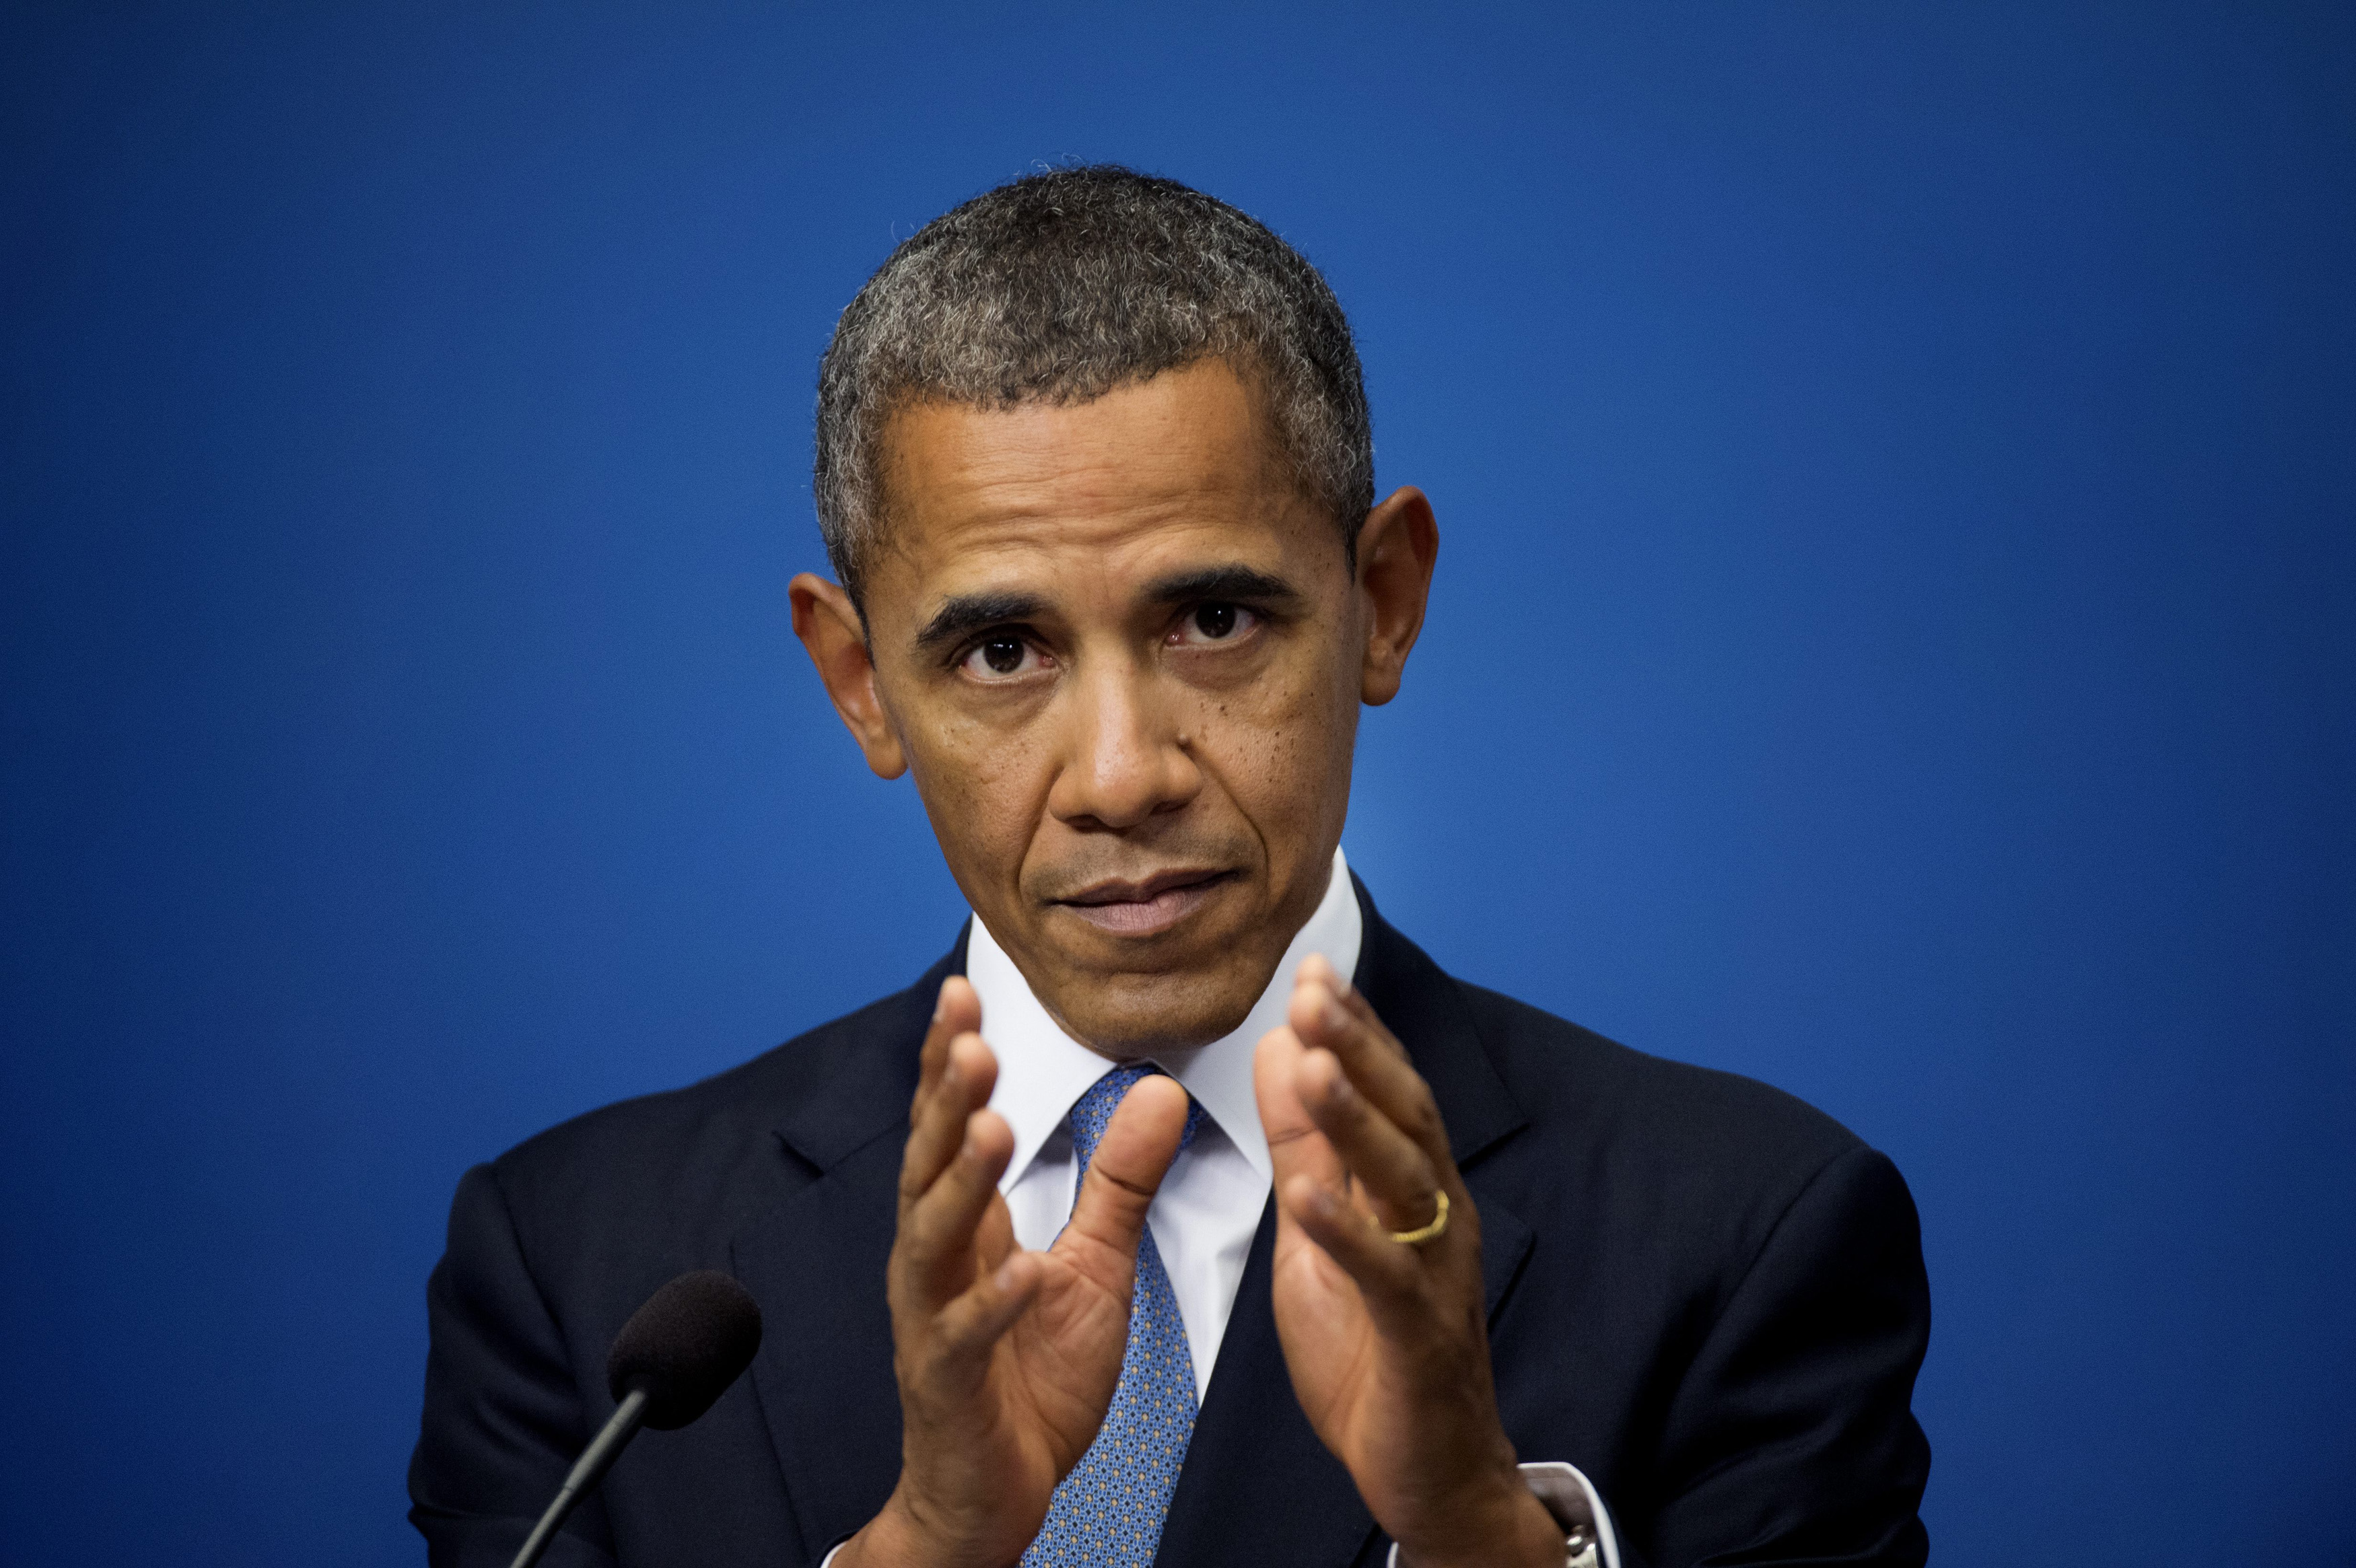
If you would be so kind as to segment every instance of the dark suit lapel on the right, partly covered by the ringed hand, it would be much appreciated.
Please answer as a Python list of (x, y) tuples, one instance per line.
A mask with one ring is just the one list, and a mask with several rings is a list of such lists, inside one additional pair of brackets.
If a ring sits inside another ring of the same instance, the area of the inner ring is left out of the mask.
[[(1355, 878), (1352, 878), (1355, 881)], [(1489, 1064), (1463, 994), (1440, 965), (1395, 932), (1357, 883), (1364, 942), (1352, 984), (1399, 1036), (1416, 1071), (1432, 1085), (1449, 1144), (1480, 1201), (1482, 1295), (1496, 1323), (1529, 1257), (1531, 1231), (1475, 1175), (1480, 1156), (1524, 1125), (1522, 1111)], [(1275, 1198), (1260, 1212), (1251, 1257), (1235, 1293), (1185, 1469), (1162, 1526), (1154, 1563), (1286, 1563), (1338, 1568), (1371, 1556), (1381, 1533), (1350, 1471), (1310, 1427), (1277, 1340), (1270, 1297), (1275, 1269)]]

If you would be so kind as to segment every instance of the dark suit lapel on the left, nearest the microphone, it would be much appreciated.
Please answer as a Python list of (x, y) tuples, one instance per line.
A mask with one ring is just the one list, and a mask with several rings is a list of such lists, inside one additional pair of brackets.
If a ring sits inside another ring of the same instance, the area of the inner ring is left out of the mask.
[(884, 1271), (898, 1222), (900, 1149), (916, 1052), (966, 944), (891, 998), (841, 1050), (834, 1078), (777, 1125), (803, 1182), (737, 1234), (735, 1276), (761, 1302), (752, 1382), (768, 1422), (801, 1561), (867, 1523), (900, 1476), (900, 1387)]

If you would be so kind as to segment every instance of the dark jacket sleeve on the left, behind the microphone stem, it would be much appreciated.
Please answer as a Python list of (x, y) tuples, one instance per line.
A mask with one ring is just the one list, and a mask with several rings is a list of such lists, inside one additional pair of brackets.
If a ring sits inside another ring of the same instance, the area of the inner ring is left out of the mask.
[[(410, 1523), (434, 1568), (507, 1568), (587, 1446), (587, 1415), (499, 1177), (476, 1165), (450, 1203), (426, 1283), (426, 1406), (410, 1460)], [(549, 1568), (613, 1568), (598, 1497), (549, 1544)]]

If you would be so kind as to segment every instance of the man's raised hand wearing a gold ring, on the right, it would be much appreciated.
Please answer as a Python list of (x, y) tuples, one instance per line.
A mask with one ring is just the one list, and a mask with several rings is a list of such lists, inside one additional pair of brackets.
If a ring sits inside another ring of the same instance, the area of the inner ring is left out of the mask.
[[(1496, 1415), (1480, 1212), (1407, 1050), (1324, 958), (1253, 1057), (1277, 1184), (1275, 1311), (1310, 1427), (1414, 1568), (1562, 1568)], [(1435, 1220), (1421, 1243), (1395, 1241)]]

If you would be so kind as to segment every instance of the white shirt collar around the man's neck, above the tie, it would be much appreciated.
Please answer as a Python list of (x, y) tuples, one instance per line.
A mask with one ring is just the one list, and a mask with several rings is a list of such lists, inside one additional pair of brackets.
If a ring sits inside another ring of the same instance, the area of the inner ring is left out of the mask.
[[(1275, 1168), (1268, 1161), (1260, 1107), (1251, 1092), (1251, 1052), (1263, 1034), (1284, 1022), (1301, 961), (1310, 954), (1324, 954), (1341, 975), (1352, 975), (1362, 937), (1364, 916), (1359, 916), (1357, 892), (1350, 888), (1350, 864), (1336, 848), (1324, 899), (1284, 949), (1275, 977), (1260, 991), (1260, 1001), (1251, 1005), (1244, 1024), (1209, 1045), (1147, 1057), (1185, 1085), (1187, 1095), (1202, 1104), (1204, 1114), (1263, 1177), (1272, 1180)], [(1004, 1191), (1030, 1170), (1041, 1144), (1063, 1125), (1072, 1102), (1112, 1064), (1063, 1031), (980, 916), (973, 918), (966, 939), (966, 979), (973, 982), (973, 991), (982, 1001), (982, 1038), (999, 1057), (999, 1083), (990, 1092), (990, 1109), (1004, 1116), (1015, 1132), (1015, 1154), (1006, 1161), (1006, 1175), (999, 1177)]]

